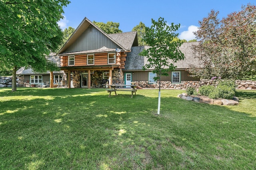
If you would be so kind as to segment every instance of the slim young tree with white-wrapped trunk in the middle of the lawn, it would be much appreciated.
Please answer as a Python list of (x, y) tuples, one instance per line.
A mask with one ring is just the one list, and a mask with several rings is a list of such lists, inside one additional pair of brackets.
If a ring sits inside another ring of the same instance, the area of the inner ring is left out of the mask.
[(149, 45), (148, 49), (144, 49), (140, 55), (148, 58), (148, 62), (143, 69), (154, 69), (152, 72), (156, 73), (157, 77), (154, 80), (159, 80), (158, 93), (158, 115), (160, 114), (160, 85), (161, 76), (168, 76), (168, 71), (176, 68), (174, 63), (184, 59), (184, 54), (179, 47), (182, 45), (181, 40), (173, 41), (178, 37), (176, 31), (180, 28), (180, 24), (168, 25), (164, 18), (159, 18), (158, 21), (152, 19), (152, 26), (146, 27), (146, 32), (143, 41)]

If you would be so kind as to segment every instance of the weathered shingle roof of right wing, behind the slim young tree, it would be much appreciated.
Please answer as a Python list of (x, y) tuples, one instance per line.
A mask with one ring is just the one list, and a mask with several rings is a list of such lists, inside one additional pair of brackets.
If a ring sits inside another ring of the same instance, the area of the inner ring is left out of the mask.
[[(186, 42), (180, 46), (180, 51), (184, 53), (185, 58), (184, 60), (177, 61), (174, 64), (177, 66), (176, 69), (187, 69), (191, 64), (196, 67), (202, 67), (200, 60), (196, 57), (198, 54), (196, 54), (192, 48), (193, 45), (197, 45), (198, 43), (199, 42)], [(143, 49), (148, 48), (149, 46), (132, 47), (131, 52), (127, 54), (125, 69), (123, 70), (142, 70), (142, 67), (148, 63), (148, 59), (144, 56), (140, 56), (139, 53)]]

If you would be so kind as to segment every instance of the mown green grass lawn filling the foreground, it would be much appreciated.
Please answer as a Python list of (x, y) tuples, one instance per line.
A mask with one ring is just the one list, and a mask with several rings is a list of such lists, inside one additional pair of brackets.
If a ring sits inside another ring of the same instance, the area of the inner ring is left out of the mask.
[(0, 169), (256, 169), (256, 91), (238, 106), (182, 90), (0, 89)]

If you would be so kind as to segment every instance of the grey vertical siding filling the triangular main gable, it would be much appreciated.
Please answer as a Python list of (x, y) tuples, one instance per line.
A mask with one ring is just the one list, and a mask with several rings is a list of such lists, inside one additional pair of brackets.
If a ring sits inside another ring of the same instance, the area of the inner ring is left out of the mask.
[(65, 52), (88, 51), (102, 47), (110, 49), (120, 48), (116, 43), (112, 42), (107, 36), (92, 26), (91, 32), (90, 27), (88, 27)]

